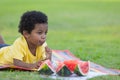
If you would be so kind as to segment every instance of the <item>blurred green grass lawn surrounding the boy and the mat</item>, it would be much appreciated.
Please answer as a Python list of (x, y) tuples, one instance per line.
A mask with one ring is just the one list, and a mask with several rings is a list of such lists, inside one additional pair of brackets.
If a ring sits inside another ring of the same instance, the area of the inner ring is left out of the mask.
[[(20, 35), (20, 16), (40, 10), (49, 18), (47, 43), (52, 49), (69, 49), (82, 60), (120, 69), (120, 2), (115, 0), (2, 0), (0, 34), (12, 44)], [(41, 80), (37, 72), (0, 71), (1, 80)], [(120, 80), (101, 76), (91, 80)]]

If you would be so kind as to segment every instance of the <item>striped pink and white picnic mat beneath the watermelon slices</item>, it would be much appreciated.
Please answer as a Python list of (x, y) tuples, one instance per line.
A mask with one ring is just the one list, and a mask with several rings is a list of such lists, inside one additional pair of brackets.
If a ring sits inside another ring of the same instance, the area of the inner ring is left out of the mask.
[[(52, 50), (52, 64), (55, 66), (56, 62), (62, 62), (65, 60), (80, 60), (76, 56), (74, 56), (69, 50)], [(33, 70), (33, 69), (27, 69), (22, 68), (18, 66), (0, 66), (0, 69), (6, 69), (6, 68), (14, 68), (19, 70)], [(96, 76), (103, 76), (103, 75), (120, 75), (120, 70), (116, 69), (109, 69), (106, 67), (103, 67), (101, 65), (98, 65), (94, 62), (90, 62), (90, 71), (86, 76), (77, 76), (75, 74), (72, 74), (69, 77), (59, 76), (53, 73), (52, 75), (41, 75), (42, 78), (52, 78), (52, 79), (60, 79), (60, 80), (87, 80)]]

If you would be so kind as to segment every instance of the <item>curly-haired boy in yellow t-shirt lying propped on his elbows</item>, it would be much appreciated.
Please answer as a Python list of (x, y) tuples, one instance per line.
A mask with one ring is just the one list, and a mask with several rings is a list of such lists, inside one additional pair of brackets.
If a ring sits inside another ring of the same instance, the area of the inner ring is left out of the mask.
[(0, 65), (15, 65), (37, 69), (42, 61), (51, 59), (52, 50), (46, 44), (47, 16), (39, 11), (25, 12), (19, 23), (21, 37), (11, 46), (0, 49)]

